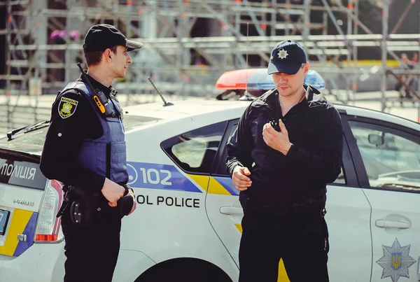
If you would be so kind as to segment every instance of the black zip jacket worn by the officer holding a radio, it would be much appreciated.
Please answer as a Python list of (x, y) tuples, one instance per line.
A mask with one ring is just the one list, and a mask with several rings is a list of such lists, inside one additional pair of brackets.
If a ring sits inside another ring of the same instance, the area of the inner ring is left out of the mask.
[[(253, 206), (280, 213), (293, 206), (325, 204), (326, 184), (341, 171), (342, 123), (337, 109), (318, 90), (304, 87), (306, 99), (284, 116), (275, 89), (255, 99), (241, 116), (227, 144), (227, 167), (231, 176), (237, 165), (251, 172), (251, 187), (239, 194), (242, 203), (252, 199)], [(293, 143), (286, 155), (270, 148), (262, 136), (264, 125), (277, 120), (276, 105)]]

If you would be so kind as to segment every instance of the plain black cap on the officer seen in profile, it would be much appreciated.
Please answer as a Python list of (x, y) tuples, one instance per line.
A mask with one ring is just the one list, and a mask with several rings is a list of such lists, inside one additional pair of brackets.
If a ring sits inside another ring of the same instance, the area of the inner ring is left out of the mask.
[(96, 24), (87, 31), (83, 52), (102, 51), (116, 45), (127, 47), (127, 51), (143, 47), (143, 43), (128, 40), (121, 31), (111, 24)]

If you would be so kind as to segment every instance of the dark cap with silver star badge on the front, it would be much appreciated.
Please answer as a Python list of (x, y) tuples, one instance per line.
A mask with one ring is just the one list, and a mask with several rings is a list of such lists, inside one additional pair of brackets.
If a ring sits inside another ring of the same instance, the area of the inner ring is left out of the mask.
[(267, 67), (268, 74), (295, 74), (307, 62), (302, 46), (293, 40), (283, 40), (272, 50)]

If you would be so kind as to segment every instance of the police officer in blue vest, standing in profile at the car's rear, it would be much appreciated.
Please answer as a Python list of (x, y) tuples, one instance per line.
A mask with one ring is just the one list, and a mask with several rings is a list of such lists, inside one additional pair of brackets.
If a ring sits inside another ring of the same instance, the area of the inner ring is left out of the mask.
[[(41, 171), (68, 189), (69, 202), (61, 210), (64, 281), (111, 281), (121, 218), (136, 209), (134, 194), (126, 185), (122, 110), (111, 83), (125, 76), (132, 63), (128, 52), (141, 46), (112, 25), (94, 25), (83, 45), (87, 75), (64, 87), (52, 104)], [(72, 209), (77, 212), (71, 213)], [(80, 214), (92, 214), (90, 221), (75, 218)]]

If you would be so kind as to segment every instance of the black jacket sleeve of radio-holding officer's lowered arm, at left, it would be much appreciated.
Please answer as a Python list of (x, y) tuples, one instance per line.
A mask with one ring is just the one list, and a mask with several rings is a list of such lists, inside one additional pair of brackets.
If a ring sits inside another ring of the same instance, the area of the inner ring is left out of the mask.
[(248, 167), (252, 165), (251, 149), (253, 146), (253, 139), (251, 135), (251, 129), (248, 125), (248, 118), (250, 113), (251, 105), (246, 108), (241, 118), (237, 129), (233, 133), (232, 137), (228, 141), (228, 157), (226, 158), (226, 167), (232, 177), (233, 170), (236, 166)]

